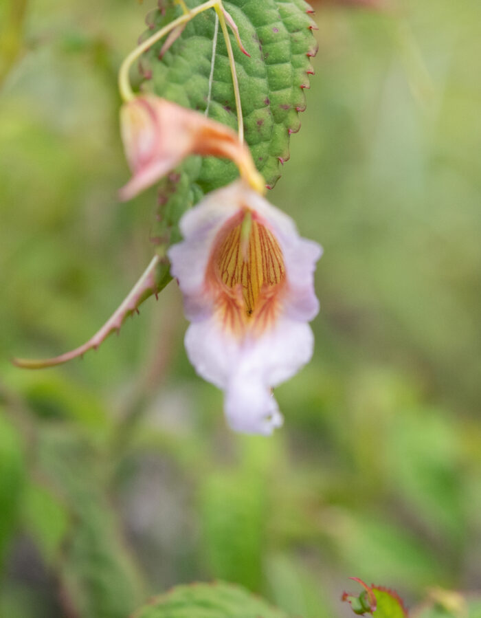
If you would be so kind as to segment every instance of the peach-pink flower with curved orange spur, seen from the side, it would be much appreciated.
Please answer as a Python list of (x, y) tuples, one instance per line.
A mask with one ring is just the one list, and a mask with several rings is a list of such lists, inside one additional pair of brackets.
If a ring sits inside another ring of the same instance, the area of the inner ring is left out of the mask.
[(188, 155), (212, 155), (234, 161), (258, 191), (264, 189), (247, 146), (225, 124), (205, 118), (166, 99), (144, 95), (120, 110), (120, 130), (133, 177), (120, 190), (126, 201), (153, 185)]

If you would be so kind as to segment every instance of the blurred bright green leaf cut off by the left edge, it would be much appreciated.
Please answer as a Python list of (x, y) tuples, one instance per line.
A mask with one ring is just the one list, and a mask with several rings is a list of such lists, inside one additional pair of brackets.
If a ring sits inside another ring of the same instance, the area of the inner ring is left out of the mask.
[(0, 566), (16, 527), (24, 481), (21, 439), (0, 408)]

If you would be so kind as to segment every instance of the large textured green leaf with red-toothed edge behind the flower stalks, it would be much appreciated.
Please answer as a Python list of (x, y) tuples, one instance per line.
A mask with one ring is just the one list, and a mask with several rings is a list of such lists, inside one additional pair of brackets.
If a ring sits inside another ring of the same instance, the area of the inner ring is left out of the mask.
[[(178, 5), (172, 1), (166, 7), (165, 4), (149, 14), (151, 27), (145, 36), (180, 14)], [(188, 0), (190, 7), (199, 4)], [(298, 114), (306, 107), (304, 89), (309, 87), (311, 57), (317, 51), (311, 8), (303, 0), (233, 0), (224, 6), (250, 54), (249, 58), (240, 52), (231, 33), (245, 140), (267, 186), (273, 186), (281, 164), (289, 159), (289, 137), (300, 129)], [(212, 54), (215, 19), (214, 10), (196, 16), (161, 59), (159, 52), (164, 41), (150, 47), (139, 62), (142, 87), (184, 107), (201, 113), (208, 111), (210, 118), (237, 129), (234, 87), (220, 28), (216, 52)], [(181, 214), (192, 203), (236, 175), (234, 164), (214, 157), (205, 157), (194, 166), (182, 166), (178, 184), (182, 199), (172, 197), (172, 186), (166, 190), (168, 181), (161, 188), (159, 235), (168, 236), (169, 230), (175, 232)], [(170, 203), (172, 199), (177, 201), (175, 206)], [(173, 237), (171, 240), (175, 241)]]

